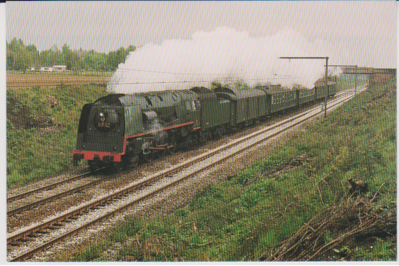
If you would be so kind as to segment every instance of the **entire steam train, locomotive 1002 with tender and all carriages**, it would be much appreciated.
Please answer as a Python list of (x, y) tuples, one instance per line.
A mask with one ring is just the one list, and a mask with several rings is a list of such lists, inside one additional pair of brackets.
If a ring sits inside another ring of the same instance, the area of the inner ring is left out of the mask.
[[(139, 160), (173, 153), (228, 131), (257, 123), (277, 111), (325, 96), (324, 81), (312, 89), (282, 91), (275, 86), (218, 87), (109, 94), (83, 106), (74, 165), (108, 166), (119, 172)], [(336, 81), (328, 81), (328, 95)]]

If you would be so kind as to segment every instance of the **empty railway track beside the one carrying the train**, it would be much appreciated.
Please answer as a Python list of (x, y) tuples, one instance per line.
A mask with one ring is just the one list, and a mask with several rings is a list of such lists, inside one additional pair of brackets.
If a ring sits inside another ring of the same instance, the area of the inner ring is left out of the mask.
[[(364, 89), (365, 89), (364, 87), (358, 88), (359, 92)], [(350, 94), (350, 96), (347, 96), (348, 93)], [(349, 100), (350, 98), (352, 98), (352, 93), (346, 92), (340, 94), (340, 96), (341, 97), (339, 99), (330, 102), (328, 108), (332, 108), (346, 100)], [(39, 246), (32, 248), (30, 251), (24, 252), (24, 254), (9, 256), (11, 257), (9, 261), (22, 261), (32, 256), (32, 254), (40, 250), (44, 250), (45, 248), (51, 246), (54, 243), (63, 241), (95, 223), (108, 219), (109, 217), (112, 217), (113, 215), (126, 210), (131, 205), (138, 203), (146, 198), (149, 198), (152, 195), (159, 193), (162, 190), (170, 186), (173, 186), (178, 182), (181, 182), (182, 180), (186, 180), (190, 176), (196, 175), (199, 172), (209, 169), (215, 166), (215, 164), (227, 160), (237, 155), (238, 153), (241, 153), (242, 151), (249, 149), (250, 147), (253, 147), (254, 145), (257, 145), (267, 139), (270, 139), (271, 137), (274, 137), (275, 135), (278, 135), (281, 132), (290, 129), (298, 125), (299, 123), (302, 123), (303, 121), (306, 121), (307, 119), (310, 119), (311, 117), (320, 114), (321, 112), (322, 111), (320, 110), (320, 106), (317, 106), (316, 108), (312, 108), (309, 111), (305, 111), (292, 118), (276, 123), (275, 125), (266, 127), (265, 129), (261, 129), (245, 137), (241, 137), (240, 139), (237, 139), (217, 149), (204, 153), (203, 155), (196, 156), (190, 160), (187, 160), (186, 162), (173, 166), (167, 170), (158, 172), (157, 174), (154, 174), (149, 178), (144, 178), (141, 181), (137, 181), (134, 184), (131, 184), (130, 186), (127, 186), (125, 188), (122, 188), (116, 192), (107, 195), (106, 197), (82, 205), (73, 211), (69, 211), (58, 217), (49, 219), (46, 222), (40, 223), (39, 225), (36, 226), (32, 226), (31, 228), (28, 228), (24, 231), (17, 231), (15, 233), (11, 233), (7, 237), (7, 243), (16, 244), (18, 240), (24, 237), (34, 238), (38, 235), (41, 235), (41, 233), (43, 233), (43, 230), (45, 230), (46, 228), (51, 230), (58, 229), (60, 227), (65, 226), (65, 223), (67, 223), (67, 221), (78, 220), (79, 216), (86, 215), (87, 213), (105, 207), (106, 205), (115, 205), (113, 208), (110, 208), (110, 210), (107, 211), (106, 213), (103, 213), (101, 215), (94, 215), (97, 217), (89, 219), (89, 221), (85, 222), (83, 225), (71, 228), (70, 230), (67, 231), (67, 233), (55, 237), (44, 244), (40, 244)], [(165, 180), (164, 182), (160, 182), (160, 180), (163, 180), (165, 177), (168, 177), (168, 180), (166, 180), (167, 182), (165, 182)], [(149, 190), (148, 192), (143, 192), (141, 194), (137, 193), (139, 188), (145, 188), (150, 184), (154, 187), (153, 189)], [(133, 192), (136, 192), (136, 194), (138, 195), (132, 196)], [(123, 201), (123, 203), (115, 204), (120, 202), (120, 199), (122, 198), (128, 200)]]

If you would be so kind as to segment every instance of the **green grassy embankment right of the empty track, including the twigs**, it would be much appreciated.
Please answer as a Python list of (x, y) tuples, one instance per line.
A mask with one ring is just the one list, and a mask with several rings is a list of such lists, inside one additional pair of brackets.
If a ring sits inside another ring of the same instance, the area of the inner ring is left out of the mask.
[(74, 260), (104, 260), (118, 243), (122, 261), (396, 260), (394, 84), (358, 94), (188, 206), (126, 219)]

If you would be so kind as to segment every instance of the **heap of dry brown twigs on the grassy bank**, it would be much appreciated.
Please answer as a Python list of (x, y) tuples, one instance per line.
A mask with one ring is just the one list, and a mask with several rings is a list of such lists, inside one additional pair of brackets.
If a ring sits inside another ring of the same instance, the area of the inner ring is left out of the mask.
[[(279, 243), (259, 260), (320, 260), (332, 248), (354, 237), (379, 235), (396, 228), (396, 213), (373, 207), (367, 198), (349, 198), (322, 211), (301, 227), (292, 237)], [(325, 243), (327, 231), (339, 235)], [(275, 250), (275, 251), (274, 251)]]

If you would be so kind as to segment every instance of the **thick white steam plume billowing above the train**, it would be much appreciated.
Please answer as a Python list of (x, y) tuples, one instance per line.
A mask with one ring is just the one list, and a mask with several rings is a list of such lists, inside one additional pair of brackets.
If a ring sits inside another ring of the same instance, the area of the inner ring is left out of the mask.
[(247, 32), (218, 27), (198, 31), (192, 39), (165, 40), (130, 52), (119, 64), (108, 90), (115, 93), (211, 87), (211, 82), (231, 84), (242, 80), (249, 86), (297, 83), (308, 88), (323, 75), (325, 61), (279, 59), (320, 57), (318, 47), (286, 29), (271, 36), (251, 38)]

